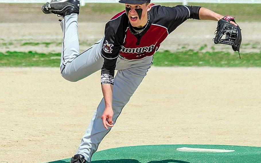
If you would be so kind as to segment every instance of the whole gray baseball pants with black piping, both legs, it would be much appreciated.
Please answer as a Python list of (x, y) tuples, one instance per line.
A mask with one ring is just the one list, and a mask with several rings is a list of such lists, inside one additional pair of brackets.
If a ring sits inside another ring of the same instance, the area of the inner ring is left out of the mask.
[[(65, 16), (61, 22), (61, 27), (63, 30), (61, 75), (66, 80), (78, 81), (100, 70), (104, 61), (101, 55), (104, 38), (80, 54), (77, 14)], [(130, 100), (143, 77), (145, 77), (152, 64), (152, 59), (152, 56), (136, 60), (118, 57), (116, 63), (118, 72), (114, 78), (112, 94), (112, 109), (114, 112), (112, 120), (114, 122), (116, 122), (122, 108)], [(97, 150), (98, 145), (111, 129), (109, 127), (107, 130), (103, 126), (101, 116), (104, 108), (104, 98), (102, 98), (76, 152), (76, 154), (82, 154), (87, 162), (91, 161), (92, 154)]]

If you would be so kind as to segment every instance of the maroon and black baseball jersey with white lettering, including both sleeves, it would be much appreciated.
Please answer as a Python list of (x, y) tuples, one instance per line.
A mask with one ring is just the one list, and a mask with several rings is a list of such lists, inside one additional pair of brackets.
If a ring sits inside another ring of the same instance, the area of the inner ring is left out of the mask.
[[(138, 33), (129, 23), (125, 10), (115, 15), (105, 26), (102, 76), (107, 76), (107, 79), (108, 75), (110, 78), (114, 76), (119, 55), (126, 59), (141, 59), (153, 55), (161, 42), (185, 20), (199, 19), (199, 9), (198, 6), (153, 5), (148, 12), (147, 25)], [(113, 84), (107, 79), (102, 80), (102, 84)]]

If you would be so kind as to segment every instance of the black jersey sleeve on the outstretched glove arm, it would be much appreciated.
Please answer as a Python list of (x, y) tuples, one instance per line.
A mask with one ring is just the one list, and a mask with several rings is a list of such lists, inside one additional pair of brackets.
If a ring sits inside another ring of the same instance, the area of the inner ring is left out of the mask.
[[(187, 19), (199, 19), (199, 6), (177, 5), (175, 7), (162, 6), (162, 12), (165, 13), (165, 27), (168, 32), (174, 31), (180, 24)], [(167, 16), (166, 16), (167, 15)]]

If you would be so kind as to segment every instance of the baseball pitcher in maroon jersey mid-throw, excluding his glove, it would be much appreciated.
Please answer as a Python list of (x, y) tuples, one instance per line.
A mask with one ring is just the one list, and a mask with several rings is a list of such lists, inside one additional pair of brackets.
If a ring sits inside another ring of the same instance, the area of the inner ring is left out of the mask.
[[(113, 16), (106, 23), (104, 37), (81, 54), (77, 34), (79, 1), (51, 1), (42, 7), (46, 14), (63, 17), (61, 75), (75, 82), (101, 70), (104, 98), (94, 112), (71, 163), (91, 161), (92, 154), (151, 67), (153, 54), (172, 31), (187, 19), (217, 21), (223, 18), (198, 6), (165, 7), (154, 5), (150, 0), (119, 2), (125, 4), (125, 10)], [(115, 69), (118, 72), (114, 77)]]

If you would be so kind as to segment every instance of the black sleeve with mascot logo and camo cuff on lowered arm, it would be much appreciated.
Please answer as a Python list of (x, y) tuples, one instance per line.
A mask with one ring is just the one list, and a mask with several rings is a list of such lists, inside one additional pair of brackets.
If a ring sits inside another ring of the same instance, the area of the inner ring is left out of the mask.
[(114, 83), (114, 71), (122, 42), (119, 26), (120, 23), (117, 20), (109, 21), (105, 26), (105, 36), (102, 44), (104, 63), (101, 72), (101, 84), (113, 85)]

